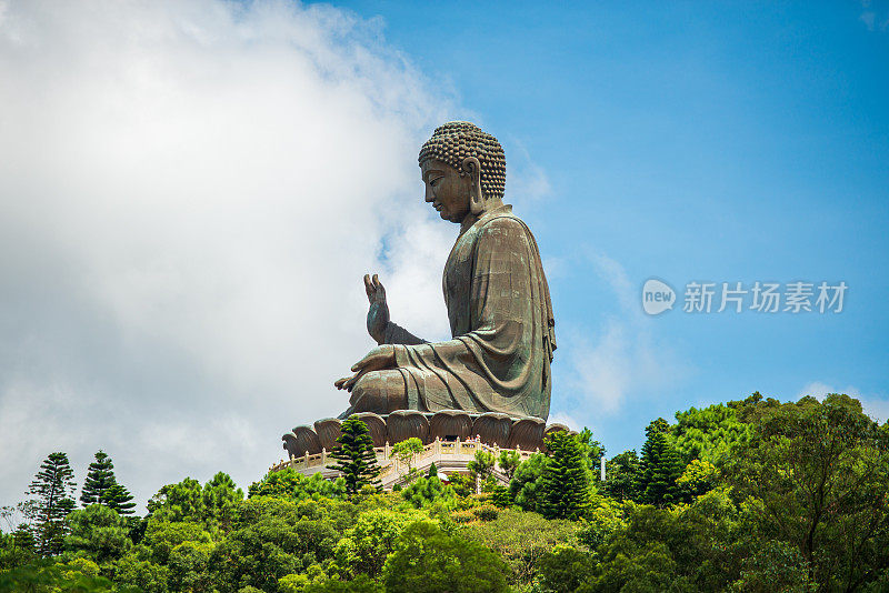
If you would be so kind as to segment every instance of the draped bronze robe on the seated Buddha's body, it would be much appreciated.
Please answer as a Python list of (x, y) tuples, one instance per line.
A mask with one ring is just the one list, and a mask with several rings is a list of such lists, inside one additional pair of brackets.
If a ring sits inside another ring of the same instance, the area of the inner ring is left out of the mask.
[(512, 207), (457, 239), (442, 281), (452, 340), (429, 343), (390, 322), (408, 408), (549, 415), (555, 320), (540, 253)]

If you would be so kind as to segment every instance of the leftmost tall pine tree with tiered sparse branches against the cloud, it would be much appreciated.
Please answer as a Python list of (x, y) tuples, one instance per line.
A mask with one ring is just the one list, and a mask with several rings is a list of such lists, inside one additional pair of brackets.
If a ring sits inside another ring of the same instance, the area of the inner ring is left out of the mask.
[(62, 452), (50, 453), (34, 475), (28, 493), (34, 496), (28, 519), (33, 521), (37, 551), (58, 554), (64, 537), (64, 517), (74, 510), (74, 472)]

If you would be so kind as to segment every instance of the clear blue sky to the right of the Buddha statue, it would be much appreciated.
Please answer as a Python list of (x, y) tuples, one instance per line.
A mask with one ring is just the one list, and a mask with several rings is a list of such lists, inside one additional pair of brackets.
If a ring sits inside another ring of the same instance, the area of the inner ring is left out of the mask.
[[(338, 6), (380, 17), (433, 89), (456, 90), (455, 117), (498, 135), (508, 162), (527, 151), (542, 170), (543, 195), (508, 183), (507, 197), (553, 268), (555, 411), (595, 426), (612, 453), (639, 446), (658, 415), (756, 390), (851, 391), (886, 419), (889, 3)], [(840, 314), (646, 318), (651, 277), (680, 291), (692, 280), (849, 289)], [(658, 362), (606, 411), (566, 360), (609, 328), (622, 372)]]

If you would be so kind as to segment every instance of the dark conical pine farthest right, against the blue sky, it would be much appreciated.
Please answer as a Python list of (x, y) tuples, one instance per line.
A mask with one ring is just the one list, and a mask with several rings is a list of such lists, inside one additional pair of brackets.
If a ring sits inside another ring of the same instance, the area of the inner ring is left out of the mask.
[(643, 502), (662, 506), (679, 502), (681, 489), (676, 480), (682, 475), (682, 460), (667, 439), (669, 424), (662, 418), (646, 429), (642, 445), (639, 490)]

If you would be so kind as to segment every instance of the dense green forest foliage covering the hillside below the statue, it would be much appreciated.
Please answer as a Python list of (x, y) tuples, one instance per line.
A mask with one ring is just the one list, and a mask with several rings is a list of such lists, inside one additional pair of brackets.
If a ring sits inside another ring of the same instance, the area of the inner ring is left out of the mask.
[[(591, 432), (546, 444), (522, 462), (480, 455), (472, 476), (414, 471), (397, 492), (362, 471), (286, 469), (248, 497), (221, 472), (187, 478), (139, 519), (114, 507), (99, 455), (96, 500), (74, 510), (52, 453), (31, 497), (0, 509), (0, 593), (889, 591), (889, 423), (853, 399), (755, 393), (658, 419), (605, 482)], [(401, 449), (410, 465), (416, 443)]]

